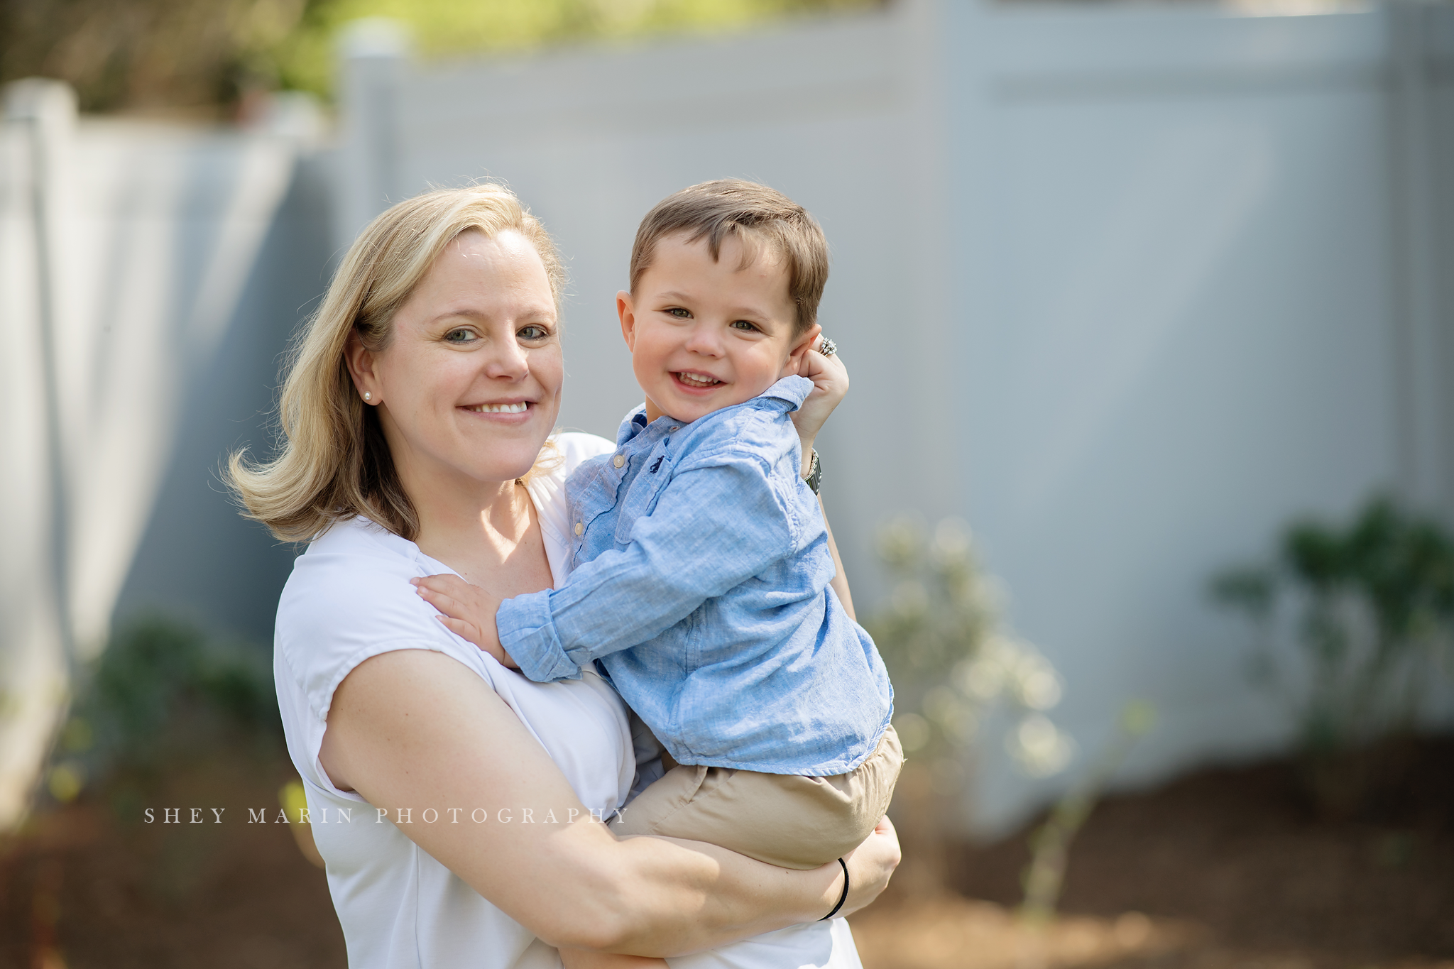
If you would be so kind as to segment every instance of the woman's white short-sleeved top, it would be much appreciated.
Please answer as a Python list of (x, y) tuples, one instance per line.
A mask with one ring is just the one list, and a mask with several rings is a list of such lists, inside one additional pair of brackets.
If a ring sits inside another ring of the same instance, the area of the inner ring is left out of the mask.
[[(614, 445), (560, 434), (564, 461), (534, 477), (554, 583), (566, 578), (566, 475)], [(313, 834), (327, 861), (350, 969), (560, 969), (557, 952), (491, 905), (404, 837), (359, 795), (333, 786), (318, 750), (333, 692), (353, 667), (393, 649), (432, 649), (494, 689), (560, 767), (586, 808), (606, 816), (635, 777), (627, 709), (586, 671), (580, 680), (532, 683), (455, 636), (414, 593), (410, 578), (451, 572), (413, 542), (365, 519), (340, 522), (294, 562), (278, 604), (273, 673), (288, 753), (308, 792)], [(343, 821), (350, 816), (352, 821)], [(462, 819), (462, 818), (461, 818)], [(522, 875), (529, 877), (529, 873)], [(842, 920), (794, 925), (670, 960), (673, 969), (861, 969)]]

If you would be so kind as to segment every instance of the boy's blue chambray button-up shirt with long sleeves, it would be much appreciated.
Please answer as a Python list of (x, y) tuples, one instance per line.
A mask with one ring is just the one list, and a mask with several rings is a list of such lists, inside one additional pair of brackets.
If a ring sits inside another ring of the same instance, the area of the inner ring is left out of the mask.
[(627, 415), (567, 479), (570, 580), (506, 600), (500, 644), (532, 680), (601, 660), (680, 764), (832, 776), (874, 751), (893, 689), (829, 587), (790, 411), (813, 382), (682, 424)]

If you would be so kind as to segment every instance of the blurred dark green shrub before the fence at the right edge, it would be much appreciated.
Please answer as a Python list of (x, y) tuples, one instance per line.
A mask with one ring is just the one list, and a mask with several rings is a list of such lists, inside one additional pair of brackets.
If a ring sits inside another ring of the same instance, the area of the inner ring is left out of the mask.
[[(1454, 660), (1454, 542), (1389, 498), (1346, 526), (1296, 522), (1271, 562), (1221, 572), (1210, 591), (1252, 622), (1249, 677), (1287, 706), (1314, 774), (1412, 732)], [(1313, 779), (1325, 806), (1357, 799), (1326, 780)]]

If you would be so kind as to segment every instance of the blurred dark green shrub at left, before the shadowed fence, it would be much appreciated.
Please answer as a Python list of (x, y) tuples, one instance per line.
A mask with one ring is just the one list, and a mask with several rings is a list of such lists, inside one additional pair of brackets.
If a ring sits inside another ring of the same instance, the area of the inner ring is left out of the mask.
[(144, 616), (113, 633), (79, 684), (47, 789), (61, 802), (86, 787), (145, 789), (222, 748), (262, 757), (282, 750), (269, 652)]

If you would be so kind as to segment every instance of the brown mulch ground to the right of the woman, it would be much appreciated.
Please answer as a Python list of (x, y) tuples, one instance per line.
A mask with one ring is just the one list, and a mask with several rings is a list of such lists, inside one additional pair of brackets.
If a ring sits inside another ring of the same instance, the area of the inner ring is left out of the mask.
[(864, 963), (1454, 969), (1454, 738), (1390, 755), (1396, 779), (1352, 816), (1314, 811), (1288, 763), (1102, 800), (1045, 931), (1011, 911), (1034, 825), (961, 847), (949, 863), (960, 896), (922, 912), (888, 899), (859, 917)]

